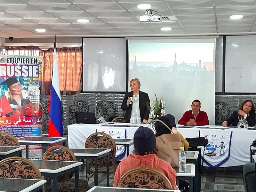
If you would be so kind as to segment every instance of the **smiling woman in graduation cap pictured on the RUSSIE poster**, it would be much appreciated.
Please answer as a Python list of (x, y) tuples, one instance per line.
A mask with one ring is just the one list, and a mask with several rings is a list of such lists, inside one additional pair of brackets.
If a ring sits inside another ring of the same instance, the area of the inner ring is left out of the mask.
[[(9, 95), (8, 101), (13, 110), (20, 109), (21, 106), (25, 106), (26, 104), (30, 103), (30, 100), (23, 98), (22, 86), (16, 78), (10, 77), (4, 82), (2, 82), (0, 85), (7, 86), (8, 95)], [(3, 109), (0, 108), (0, 112), (2, 111)], [(12, 115), (12, 112), (9, 114), (6, 114), (5, 116), (8, 117), (11, 115)]]

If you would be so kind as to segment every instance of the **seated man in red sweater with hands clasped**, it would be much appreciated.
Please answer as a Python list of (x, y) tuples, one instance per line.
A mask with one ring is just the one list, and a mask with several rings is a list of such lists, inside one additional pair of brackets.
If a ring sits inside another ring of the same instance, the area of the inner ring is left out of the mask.
[(186, 111), (178, 124), (181, 125), (209, 125), (208, 116), (204, 111), (200, 111), (201, 102), (194, 100), (191, 105), (192, 110)]

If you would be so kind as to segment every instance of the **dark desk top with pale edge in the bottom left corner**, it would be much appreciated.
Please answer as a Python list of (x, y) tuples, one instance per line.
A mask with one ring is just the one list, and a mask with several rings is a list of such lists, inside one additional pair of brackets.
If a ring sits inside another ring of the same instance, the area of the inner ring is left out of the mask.
[(46, 180), (0, 178), (0, 192), (29, 192), (46, 183)]

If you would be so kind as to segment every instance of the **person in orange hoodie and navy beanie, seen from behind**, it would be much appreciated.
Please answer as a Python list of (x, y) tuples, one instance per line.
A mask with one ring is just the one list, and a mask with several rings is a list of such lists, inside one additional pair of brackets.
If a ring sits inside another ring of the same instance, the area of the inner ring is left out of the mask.
[(151, 129), (140, 126), (134, 133), (133, 145), (133, 154), (121, 161), (116, 169), (114, 187), (117, 187), (119, 180), (127, 171), (135, 167), (151, 167), (162, 172), (170, 180), (173, 189), (178, 189), (177, 173), (170, 164), (156, 156), (156, 136)]

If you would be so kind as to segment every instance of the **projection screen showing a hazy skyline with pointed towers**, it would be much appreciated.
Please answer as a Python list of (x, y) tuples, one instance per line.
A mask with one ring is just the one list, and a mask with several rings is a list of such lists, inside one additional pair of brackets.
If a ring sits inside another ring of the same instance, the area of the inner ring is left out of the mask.
[(162, 97), (166, 114), (172, 114), (176, 124), (198, 99), (214, 125), (215, 41), (129, 40), (129, 81), (139, 78), (140, 90), (148, 93), (150, 101), (154, 93)]

